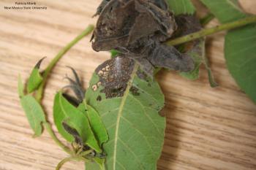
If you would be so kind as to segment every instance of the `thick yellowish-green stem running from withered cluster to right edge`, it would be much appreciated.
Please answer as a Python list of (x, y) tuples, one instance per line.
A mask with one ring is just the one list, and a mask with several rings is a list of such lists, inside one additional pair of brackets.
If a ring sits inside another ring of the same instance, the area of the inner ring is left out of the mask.
[(192, 33), (192, 34), (188, 34), (187, 36), (181, 36), (177, 39), (170, 39), (169, 41), (165, 42), (165, 44), (166, 45), (181, 45), (185, 42), (190, 42), (190, 41), (195, 40), (195, 39), (200, 39), (204, 36), (215, 34), (215, 33), (220, 32), (220, 31), (225, 31), (225, 30), (238, 28), (238, 27), (241, 27), (241, 26), (246, 26), (249, 23), (255, 23), (255, 22), (256, 22), (256, 16), (246, 17), (244, 19), (236, 20), (236, 21), (231, 22), (231, 23), (225, 23), (225, 24), (220, 25), (220, 26), (214, 26), (213, 28), (205, 28), (201, 31), (197, 31), (197, 32)]

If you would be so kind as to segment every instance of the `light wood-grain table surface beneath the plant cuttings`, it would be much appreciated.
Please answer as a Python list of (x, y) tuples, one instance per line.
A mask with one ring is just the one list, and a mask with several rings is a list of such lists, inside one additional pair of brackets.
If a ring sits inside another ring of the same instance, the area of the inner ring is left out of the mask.
[[(29, 76), (34, 64), (47, 56), (42, 67), (97, 18), (91, 18), (100, 0), (42, 0), (46, 10), (14, 10), (14, 0), (0, 0), (0, 169), (53, 170), (67, 154), (45, 131), (37, 139), (20, 108), (17, 79)], [(255, 0), (241, 0), (247, 12), (256, 13)], [(202, 7), (199, 5), (199, 7)], [(211, 26), (217, 20), (211, 22)], [(159, 170), (256, 169), (256, 105), (230, 77), (223, 56), (223, 36), (208, 38), (207, 55), (218, 88), (210, 88), (206, 70), (200, 79), (185, 80), (175, 72), (161, 72), (159, 83), (166, 97), (165, 145)], [(61, 59), (48, 81), (43, 104), (50, 121), (53, 96), (67, 84), (65, 66), (72, 66), (88, 85), (94, 69), (110, 58), (91, 49), (90, 36)], [(255, 87), (256, 90), (256, 87)], [(54, 128), (56, 131), (56, 128)], [(67, 163), (64, 169), (83, 169)], [(136, 170), (136, 169), (135, 169)]]

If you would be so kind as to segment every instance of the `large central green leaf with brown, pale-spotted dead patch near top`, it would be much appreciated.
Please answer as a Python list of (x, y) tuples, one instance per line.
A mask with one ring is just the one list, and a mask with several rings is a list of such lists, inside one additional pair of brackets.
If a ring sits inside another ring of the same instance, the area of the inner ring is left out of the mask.
[[(117, 56), (98, 66), (86, 101), (108, 131), (109, 141), (103, 144), (106, 169), (157, 168), (165, 134), (165, 117), (158, 113), (164, 96), (135, 61)], [(100, 168), (94, 162), (86, 163), (86, 169)]]

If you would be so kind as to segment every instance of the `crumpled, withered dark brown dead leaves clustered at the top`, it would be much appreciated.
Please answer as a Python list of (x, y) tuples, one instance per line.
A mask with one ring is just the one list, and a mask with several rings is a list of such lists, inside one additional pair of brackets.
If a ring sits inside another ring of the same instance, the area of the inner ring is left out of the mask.
[(162, 44), (177, 30), (175, 18), (164, 0), (102, 1), (97, 14), (94, 50), (119, 50), (121, 57), (138, 61), (150, 75), (154, 67), (181, 72), (194, 68), (192, 58)]

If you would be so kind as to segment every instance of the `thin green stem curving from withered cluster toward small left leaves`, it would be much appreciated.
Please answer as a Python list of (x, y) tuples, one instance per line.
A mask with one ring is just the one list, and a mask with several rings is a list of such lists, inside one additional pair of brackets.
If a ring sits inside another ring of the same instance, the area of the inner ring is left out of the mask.
[(42, 100), (42, 96), (43, 96), (43, 91), (44, 91), (44, 87), (47, 81), (47, 78), (51, 72), (51, 70), (53, 69), (53, 67), (56, 65), (56, 63), (59, 61), (59, 59), (61, 59), (63, 57), (63, 55), (65, 53), (67, 53), (67, 51), (73, 47), (77, 42), (79, 42), (81, 39), (83, 39), (84, 36), (88, 35), (91, 33), (91, 31), (94, 30), (94, 26), (89, 25), (79, 36), (77, 36), (75, 39), (72, 40), (72, 42), (69, 42), (69, 44), (64, 47), (56, 56), (55, 58), (53, 58), (52, 61), (50, 61), (48, 67), (45, 69), (45, 72), (43, 72), (42, 74), (42, 83), (39, 86), (36, 96), (35, 98), (37, 99), (37, 101), (41, 101)]

